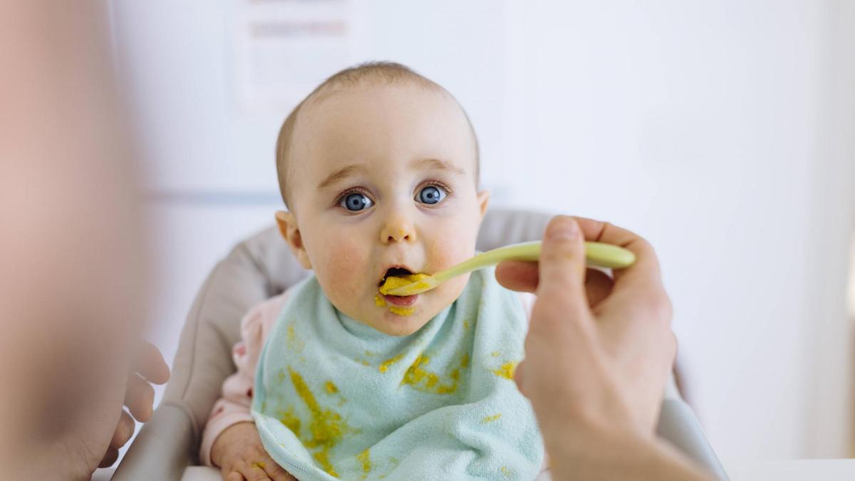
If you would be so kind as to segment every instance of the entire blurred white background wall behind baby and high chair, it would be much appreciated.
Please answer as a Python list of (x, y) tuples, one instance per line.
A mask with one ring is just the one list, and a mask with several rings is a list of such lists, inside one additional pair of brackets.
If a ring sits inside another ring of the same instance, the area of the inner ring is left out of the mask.
[(203, 278), (281, 207), (288, 112), (339, 69), (391, 60), (468, 110), (492, 206), (606, 219), (657, 247), (685, 395), (722, 460), (852, 455), (855, 3), (109, 9), (155, 222), (149, 337), (168, 360)]

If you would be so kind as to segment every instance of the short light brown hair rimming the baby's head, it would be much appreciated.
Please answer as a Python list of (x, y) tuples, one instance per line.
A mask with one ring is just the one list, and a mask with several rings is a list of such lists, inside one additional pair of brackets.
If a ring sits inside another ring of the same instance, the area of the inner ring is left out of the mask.
[(310, 101), (321, 100), (333, 92), (339, 92), (351, 86), (361, 86), (364, 84), (395, 85), (407, 82), (413, 83), (416, 86), (422, 86), (428, 90), (445, 93), (445, 95), (451, 97), (451, 99), (460, 106), (460, 110), (463, 111), (463, 116), (466, 117), (466, 122), (469, 123), (469, 131), (472, 133), (472, 139), (475, 143), (475, 187), (478, 187), (481, 170), (481, 153), (478, 147), (478, 137), (475, 135), (475, 128), (469, 120), (469, 115), (466, 113), (466, 110), (463, 109), (463, 106), (457, 102), (457, 99), (438, 83), (428, 79), (422, 74), (416, 73), (405, 65), (396, 62), (366, 62), (359, 64), (356, 67), (345, 68), (339, 73), (333, 74), (333, 76), (329, 77), (327, 80), (324, 80), (323, 83), (321, 83), (320, 86), (317, 86), (315, 90), (306, 96), (306, 98), (304, 98), (297, 107), (294, 107), (294, 110), (288, 114), (285, 122), (282, 123), (282, 127), (279, 130), (279, 138), (276, 140), (276, 173), (279, 177), (279, 188), (280, 193), (282, 194), (282, 201), (285, 202), (286, 206), (288, 205), (287, 167), (291, 154), (292, 136), (294, 133), (294, 125), (297, 122), (297, 117), (304, 105)]

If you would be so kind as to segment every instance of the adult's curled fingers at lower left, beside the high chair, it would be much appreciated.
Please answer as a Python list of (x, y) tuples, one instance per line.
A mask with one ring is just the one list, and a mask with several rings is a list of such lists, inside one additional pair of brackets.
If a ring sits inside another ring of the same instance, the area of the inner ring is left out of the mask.
[(133, 419), (141, 423), (151, 419), (155, 390), (150, 383), (163, 384), (169, 380), (169, 367), (161, 352), (147, 341), (139, 341), (132, 363), (125, 386), (124, 404), (127, 409), (122, 409), (119, 424), (98, 467), (113, 466), (119, 457), (119, 449), (133, 436), (136, 427)]

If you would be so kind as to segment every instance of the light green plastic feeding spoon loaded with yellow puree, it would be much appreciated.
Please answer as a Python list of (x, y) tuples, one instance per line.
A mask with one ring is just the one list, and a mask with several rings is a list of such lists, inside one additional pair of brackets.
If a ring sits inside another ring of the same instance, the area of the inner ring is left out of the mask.
[[(473, 270), (495, 265), (505, 260), (536, 261), (539, 258), (540, 241), (512, 244), (510, 246), (493, 249), (492, 251), (481, 252), (480, 254), (476, 254), (474, 258), (465, 260), (450, 269), (437, 272), (436, 274), (433, 274), (433, 276), (424, 276), (415, 282), (410, 282), (385, 291), (381, 290), (380, 292), (387, 295), (422, 294), (423, 292), (436, 288), (439, 284), (451, 279), (452, 277), (457, 277), (466, 274), (467, 272), (472, 272)], [(589, 265), (610, 268), (629, 267), (635, 262), (635, 254), (633, 252), (622, 247), (612, 246), (611, 244), (604, 244), (602, 242), (585, 242), (585, 258)]]

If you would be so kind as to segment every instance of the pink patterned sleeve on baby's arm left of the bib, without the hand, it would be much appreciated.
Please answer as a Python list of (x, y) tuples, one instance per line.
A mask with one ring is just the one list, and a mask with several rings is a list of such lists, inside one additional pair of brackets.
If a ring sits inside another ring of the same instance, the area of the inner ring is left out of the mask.
[(252, 387), (255, 385), (258, 356), (264, 340), (285, 305), (287, 291), (253, 307), (240, 321), (241, 340), (232, 348), (232, 359), (238, 371), (222, 383), (222, 397), (214, 403), (202, 433), (199, 459), (204, 466), (211, 463), (211, 448), (222, 431), (237, 423), (252, 422)]

